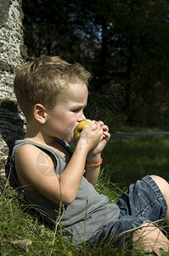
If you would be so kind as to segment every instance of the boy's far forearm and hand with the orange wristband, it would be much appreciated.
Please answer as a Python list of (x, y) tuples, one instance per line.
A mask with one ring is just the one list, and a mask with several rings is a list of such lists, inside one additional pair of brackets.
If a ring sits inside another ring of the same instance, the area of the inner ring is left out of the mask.
[[(104, 125), (102, 121), (99, 121), (99, 125), (102, 127), (103, 130), (102, 140), (99, 142), (96, 148), (93, 148), (93, 150), (87, 154), (87, 162), (92, 164), (99, 163), (101, 159), (101, 152), (104, 149), (105, 144), (110, 139), (108, 126)], [(86, 166), (85, 170), (86, 172), (84, 176), (87, 178), (88, 182), (92, 183), (93, 186), (95, 186), (99, 178), (100, 166)]]

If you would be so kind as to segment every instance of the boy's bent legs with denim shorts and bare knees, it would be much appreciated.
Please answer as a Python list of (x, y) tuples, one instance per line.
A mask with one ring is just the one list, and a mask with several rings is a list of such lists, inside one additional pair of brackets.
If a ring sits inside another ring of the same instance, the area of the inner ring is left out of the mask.
[(123, 193), (117, 201), (121, 212), (119, 219), (105, 225), (103, 230), (93, 237), (92, 242), (110, 242), (112, 239), (118, 247), (121, 247), (132, 237), (130, 230), (134, 229), (132, 239), (139, 247), (154, 251), (157, 255), (160, 255), (160, 249), (168, 252), (168, 239), (161, 229), (153, 224), (164, 223), (164, 219), (168, 223), (168, 194), (169, 184), (161, 177), (146, 176), (138, 180), (129, 187), (128, 193)]

